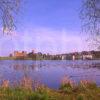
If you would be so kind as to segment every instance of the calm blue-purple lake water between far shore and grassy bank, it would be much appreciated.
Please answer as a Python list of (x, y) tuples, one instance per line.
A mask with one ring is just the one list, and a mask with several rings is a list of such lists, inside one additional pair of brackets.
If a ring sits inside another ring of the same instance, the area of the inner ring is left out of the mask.
[[(99, 61), (0, 61), (0, 76), (11, 82), (23, 77), (39, 80), (43, 84), (57, 88), (62, 77), (68, 75), (75, 81), (95, 80), (100, 85)], [(92, 76), (92, 77), (91, 77)]]

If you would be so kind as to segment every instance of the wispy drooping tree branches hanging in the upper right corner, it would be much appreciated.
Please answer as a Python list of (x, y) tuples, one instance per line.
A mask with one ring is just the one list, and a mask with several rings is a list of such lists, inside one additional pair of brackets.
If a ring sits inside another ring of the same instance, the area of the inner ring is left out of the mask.
[(100, 46), (100, 0), (83, 0), (81, 19), (82, 28)]

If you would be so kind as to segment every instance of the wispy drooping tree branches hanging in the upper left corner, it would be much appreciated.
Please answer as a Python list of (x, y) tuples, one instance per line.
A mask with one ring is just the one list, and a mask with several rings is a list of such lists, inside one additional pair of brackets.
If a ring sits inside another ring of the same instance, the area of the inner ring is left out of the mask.
[(20, 0), (0, 0), (0, 22), (4, 33), (15, 29), (15, 16), (19, 9)]

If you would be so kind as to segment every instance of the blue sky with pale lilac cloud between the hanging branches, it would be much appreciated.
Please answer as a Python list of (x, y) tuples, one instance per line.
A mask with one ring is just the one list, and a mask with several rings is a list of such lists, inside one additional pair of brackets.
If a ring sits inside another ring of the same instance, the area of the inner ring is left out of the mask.
[(81, 32), (82, 0), (24, 0), (12, 35), (0, 30), (0, 56), (15, 50), (69, 53), (89, 50)]

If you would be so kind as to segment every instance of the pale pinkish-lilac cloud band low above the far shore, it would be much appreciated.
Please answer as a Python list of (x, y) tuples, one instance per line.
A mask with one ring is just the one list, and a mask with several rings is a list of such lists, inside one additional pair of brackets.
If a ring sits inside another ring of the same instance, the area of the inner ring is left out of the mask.
[(84, 39), (82, 40), (78, 32), (49, 28), (33, 28), (23, 33), (16, 32), (13, 37), (3, 37), (0, 41), (0, 46), (5, 45), (1, 52), (35, 49), (36, 52), (54, 54), (82, 51), (86, 47)]

